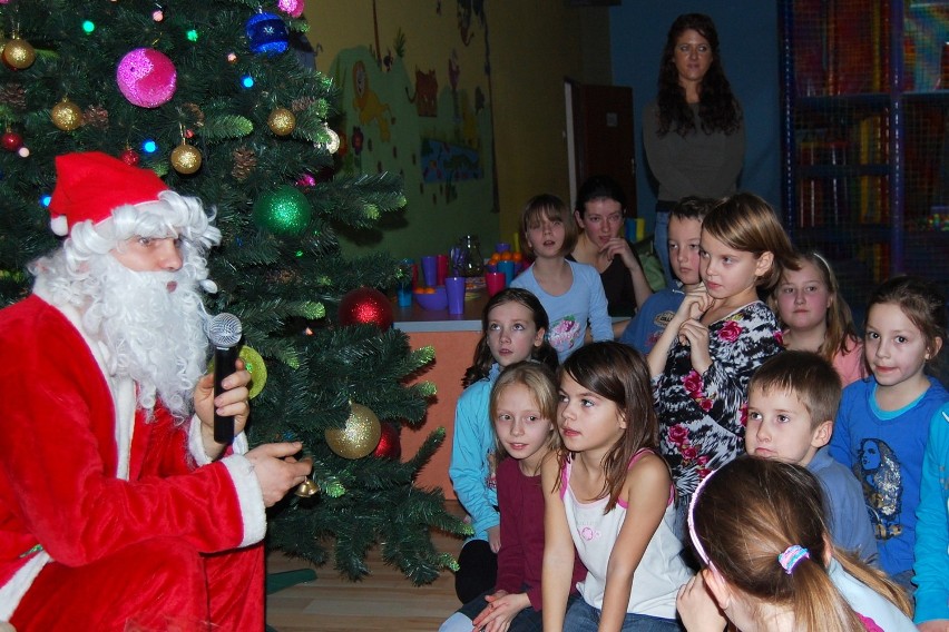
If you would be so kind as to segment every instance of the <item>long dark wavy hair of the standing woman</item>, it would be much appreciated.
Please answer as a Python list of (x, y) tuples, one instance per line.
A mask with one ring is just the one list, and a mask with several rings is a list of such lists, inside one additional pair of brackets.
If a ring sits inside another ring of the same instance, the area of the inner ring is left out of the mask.
[(698, 118), (702, 120), (702, 131), (734, 134), (741, 127), (742, 111), (732, 93), (732, 86), (725, 77), (725, 69), (722, 67), (715, 23), (704, 13), (685, 13), (676, 18), (669, 27), (663, 59), (659, 62), (659, 85), (656, 97), (659, 116), (658, 134), (665, 136), (674, 131), (679, 136), (686, 136), (695, 131), (695, 116), (685, 100), (685, 88), (678, 82), (678, 70), (675, 67), (676, 40), (689, 29), (708, 40), (708, 46), (712, 47), (712, 65), (702, 79), (698, 90)]

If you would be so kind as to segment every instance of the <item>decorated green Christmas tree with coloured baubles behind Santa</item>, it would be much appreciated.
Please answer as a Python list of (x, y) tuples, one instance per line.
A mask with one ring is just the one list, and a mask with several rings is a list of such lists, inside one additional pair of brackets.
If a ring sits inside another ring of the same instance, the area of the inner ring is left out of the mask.
[[(400, 458), (433, 385), (432, 359), (391, 328), (385, 254), (346, 260), (334, 228), (404, 204), (390, 174), (334, 172), (334, 87), (307, 63), (303, 0), (0, 0), (0, 303), (56, 246), (45, 205), (53, 158), (99, 150), (154, 169), (216, 208), (208, 312), (244, 328), (252, 444), (300, 440), (312, 481), (271, 515), (268, 543), (358, 579), (368, 550), (415, 583), (453, 559), (430, 529), (463, 534), (439, 490), (413, 486), (443, 438)], [(302, 58), (302, 59), (301, 59)]]

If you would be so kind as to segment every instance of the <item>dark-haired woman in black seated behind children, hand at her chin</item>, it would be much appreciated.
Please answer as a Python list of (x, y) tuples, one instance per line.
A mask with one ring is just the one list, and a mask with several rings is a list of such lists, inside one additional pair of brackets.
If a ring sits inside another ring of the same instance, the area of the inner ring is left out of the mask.
[[(574, 217), (581, 229), (567, 258), (596, 268), (610, 316), (634, 316), (653, 295), (639, 258), (623, 235), (626, 194), (609, 176), (591, 176), (577, 191)], [(616, 323), (622, 334), (626, 323)]]

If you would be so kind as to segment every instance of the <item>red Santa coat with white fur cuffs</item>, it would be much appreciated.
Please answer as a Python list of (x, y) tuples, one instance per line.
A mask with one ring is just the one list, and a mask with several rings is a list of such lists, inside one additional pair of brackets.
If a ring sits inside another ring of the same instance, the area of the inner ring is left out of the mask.
[(215, 553), (264, 536), (250, 462), (198, 466), (187, 424), (162, 407), (117, 419), (77, 318), (37, 295), (0, 310), (0, 618), (37, 555), (71, 567), (156, 537)]

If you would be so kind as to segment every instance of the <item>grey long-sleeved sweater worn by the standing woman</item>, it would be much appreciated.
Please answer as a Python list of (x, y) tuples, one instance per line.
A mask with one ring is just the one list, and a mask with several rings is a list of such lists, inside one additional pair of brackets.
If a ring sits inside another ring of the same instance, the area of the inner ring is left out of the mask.
[(643, 144), (649, 170), (659, 182), (659, 199), (678, 201), (685, 196), (721, 198), (735, 192), (745, 158), (745, 128), (725, 135), (704, 134), (698, 103), (692, 105), (696, 130), (679, 136), (671, 130), (663, 137), (656, 101), (643, 113)]

